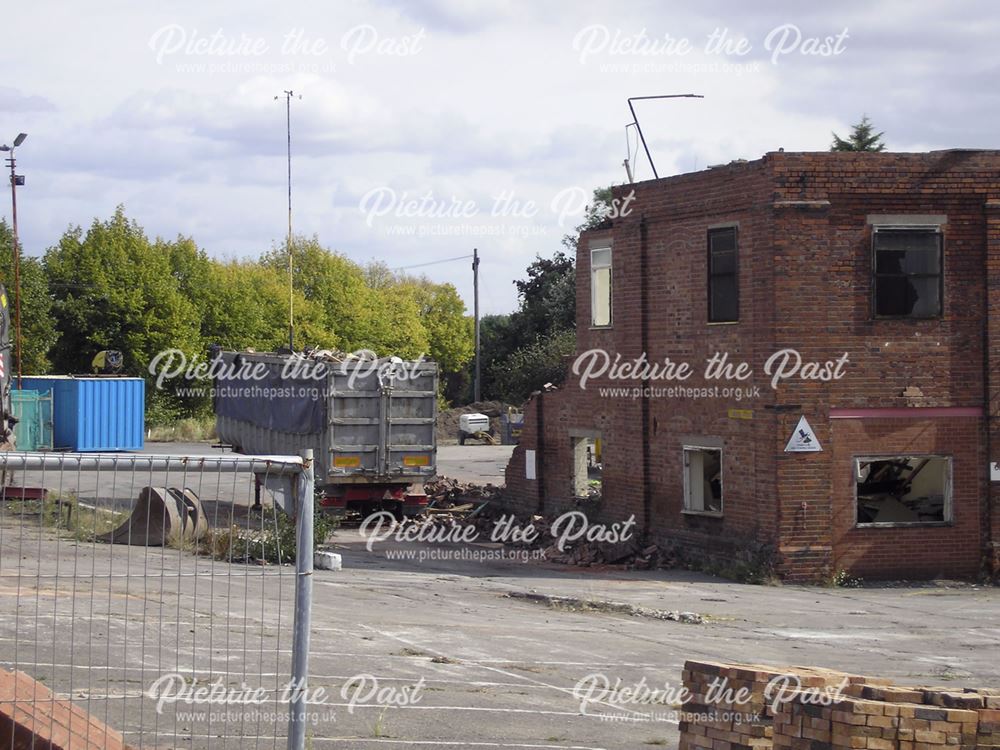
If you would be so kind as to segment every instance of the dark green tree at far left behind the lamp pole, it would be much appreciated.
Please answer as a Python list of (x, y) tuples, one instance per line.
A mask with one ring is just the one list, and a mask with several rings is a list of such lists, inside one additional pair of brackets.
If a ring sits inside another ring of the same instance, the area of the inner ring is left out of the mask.
[[(21, 371), (25, 375), (43, 375), (49, 371), (49, 350), (57, 339), (52, 318), (52, 298), (41, 260), (21, 250)], [(11, 310), (11, 346), (14, 343), (14, 235), (6, 222), (0, 221), (0, 282), (7, 289)]]

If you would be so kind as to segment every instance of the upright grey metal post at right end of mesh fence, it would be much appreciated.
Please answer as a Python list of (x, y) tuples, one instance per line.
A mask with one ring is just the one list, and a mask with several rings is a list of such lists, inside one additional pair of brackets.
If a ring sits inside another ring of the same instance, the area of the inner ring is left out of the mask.
[(305, 750), (306, 697), (309, 685), (309, 630), (312, 625), (313, 452), (302, 451), (295, 523), (295, 624), (292, 640), (292, 690), (288, 750)]

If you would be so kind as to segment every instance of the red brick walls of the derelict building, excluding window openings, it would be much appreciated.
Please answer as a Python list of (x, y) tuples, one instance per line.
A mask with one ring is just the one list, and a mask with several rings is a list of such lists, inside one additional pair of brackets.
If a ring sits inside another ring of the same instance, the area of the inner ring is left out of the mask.
[[(713, 353), (727, 352), (731, 359), (750, 363), (755, 374), (749, 385), (761, 386), (761, 395), (741, 402), (602, 398), (595, 390), (602, 383), (591, 383), (581, 392), (571, 375), (559, 393), (544, 396), (544, 476), (538, 483), (525, 482), (516, 454), (508, 476), (512, 494), (530, 505), (543, 485), (547, 507), (566, 501), (571, 494), (568, 430), (600, 429), (604, 513), (634, 513), (640, 524), (648, 517), (653, 536), (727, 555), (774, 543), (781, 570), (790, 578), (826, 576), (842, 562), (854, 566), (855, 559), (866, 561), (857, 568), (868, 575), (905, 574), (903, 567), (868, 551), (869, 537), (877, 534), (835, 532), (834, 519), (845, 507), (835, 483), (835, 477), (844, 474), (843, 456), (872, 447), (853, 445), (850, 433), (831, 433), (829, 412), (845, 407), (983, 405), (984, 372), (1000, 370), (1000, 362), (985, 361), (983, 323), (987, 304), (1000, 315), (1000, 211), (991, 214), (988, 272), (984, 211), (987, 200), (1000, 199), (1000, 154), (772, 153), (755, 162), (617, 192), (632, 189), (636, 197), (628, 216), (616, 219), (608, 231), (581, 237), (578, 351), (601, 348), (623, 359), (645, 351), (653, 360), (687, 361), (698, 371), (683, 384), (688, 387), (711, 385), (701, 379), (700, 370)], [(896, 213), (948, 217), (942, 320), (872, 320), (867, 216)], [(736, 325), (707, 322), (707, 230), (721, 223), (739, 226)], [(614, 326), (591, 330), (589, 241), (609, 236)], [(991, 331), (990, 348), (1000, 351), (1000, 327)], [(819, 361), (846, 352), (846, 376), (834, 383), (786, 383), (773, 391), (763, 363), (785, 347)], [(907, 388), (918, 388), (922, 396), (904, 397)], [(752, 418), (735, 419), (731, 408), (748, 409)], [(529, 407), (526, 446), (537, 439), (532, 411)], [(824, 452), (784, 452), (800, 415), (809, 419)], [(918, 429), (938, 428), (927, 422)], [(939, 542), (925, 546), (921, 565), (916, 560), (907, 563), (914, 574), (932, 569), (969, 574), (975, 567), (969, 562), (973, 553), (956, 556), (946, 552), (949, 545), (960, 537), (965, 548), (980, 554), (988, 539), (1000, 538), (1000, 511), (996, 503), (986, 501), (985, 427), (967, 423), (965, 429), (975, 434), (965, 435), (963, 445), (971, 445), (983, 460), (971, 467), (978, 489), (963, 489), (961, 502), (969, 511), (963, 510), (963, 516), (979, 513), (982, 523), (926, 530), (924, 537)], [(990, 429), (998, 433), (992, 460), (1000, 461), (1000, 430)], [(681, 512), (682, 445), (698, 438), (721, 441), (724, 448), (721, 519)], [(891, 542), (893, 534), (886, 539)]]

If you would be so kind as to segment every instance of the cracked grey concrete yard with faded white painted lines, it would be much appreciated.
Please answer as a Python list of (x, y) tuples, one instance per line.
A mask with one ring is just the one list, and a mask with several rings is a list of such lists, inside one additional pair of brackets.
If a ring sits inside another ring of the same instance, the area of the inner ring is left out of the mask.
[[(495, 470), (479, 446), (463, 450), (456, 466)], [(749, 586), (687, 572), (566, 568), (478, 542), (386, 540), (369, 550), (348, 528), (330, 543), (344, 570), (312, 576), (310, 686), (325, 691), (313, 696), (315, 748), (675, 747), (668, 705), (600, 691), (581, 705), (576, 686), (645, 679), (676, 688), (689, 658), (1000, 687), (995, 588)], [(0, 514), (0, 666), (72, 697), (136, 746), (283, 747), (276, 695), (289, 673), (294, 582), (288, 567), (58, 538)], [(525, 592), (705, 621), (509, 596)], [(211, 716), (204, 706), (166, 704), (157, 714), (149, 690), (173, 672), (182, 686), (221, 677), (232, 690), (263, 687), (269, 702), (209, 707)]]

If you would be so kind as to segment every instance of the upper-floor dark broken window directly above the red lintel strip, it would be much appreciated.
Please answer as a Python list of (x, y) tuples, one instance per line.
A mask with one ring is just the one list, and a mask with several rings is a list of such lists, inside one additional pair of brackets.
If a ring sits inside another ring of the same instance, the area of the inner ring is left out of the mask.
[(875, 315), (941, 315), (941, 231), (938, 227), (876, 227)]

